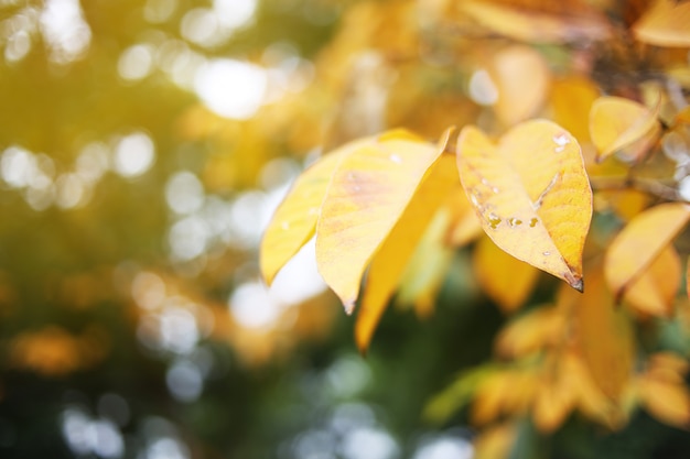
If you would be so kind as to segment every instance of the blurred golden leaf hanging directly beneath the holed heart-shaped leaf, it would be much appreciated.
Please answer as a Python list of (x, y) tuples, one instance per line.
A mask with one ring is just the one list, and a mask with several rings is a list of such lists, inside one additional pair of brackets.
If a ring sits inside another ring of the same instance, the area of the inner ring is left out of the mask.
[(532, 292), (539, 272), (510, 256), (488, 238), (479, 239), (473, 253), (477, 282), (504, 313), (519, 309)]

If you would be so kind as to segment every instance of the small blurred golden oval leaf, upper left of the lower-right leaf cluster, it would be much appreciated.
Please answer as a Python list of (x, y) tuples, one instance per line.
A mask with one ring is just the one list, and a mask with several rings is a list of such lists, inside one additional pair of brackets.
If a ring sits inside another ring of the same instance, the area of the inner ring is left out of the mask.
[(519, 358), (562, 339), (563, 316), (554, 307), (539, 307), (518, 317), (496, 339), (496, 353)]

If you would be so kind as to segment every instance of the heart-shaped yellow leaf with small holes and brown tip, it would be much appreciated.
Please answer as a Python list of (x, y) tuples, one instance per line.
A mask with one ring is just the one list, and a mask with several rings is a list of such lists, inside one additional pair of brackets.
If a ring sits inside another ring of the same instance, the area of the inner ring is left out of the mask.
[(477, 128), (457, 139), (457, 168), (484, 231), (500, 249), (582, 289), (592, 189), (578, 141), (528, 121), (497, 145)]

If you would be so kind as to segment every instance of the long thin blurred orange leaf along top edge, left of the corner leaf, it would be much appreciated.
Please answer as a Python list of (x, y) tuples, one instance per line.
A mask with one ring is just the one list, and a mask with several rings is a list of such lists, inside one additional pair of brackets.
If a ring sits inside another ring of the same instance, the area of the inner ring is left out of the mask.
[(487, 29), (531, 43), (604, 40), (608, 28), (602, 18), (543, 14), (486, 1), (463, 1), (460, 9)]

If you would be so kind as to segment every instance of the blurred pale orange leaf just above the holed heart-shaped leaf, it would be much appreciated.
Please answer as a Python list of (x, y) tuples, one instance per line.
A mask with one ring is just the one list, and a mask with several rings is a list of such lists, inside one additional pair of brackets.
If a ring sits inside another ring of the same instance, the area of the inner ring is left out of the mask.
[(551, 70), (539, 52), (526, 45), (513, 45), (497, 52), (489, 66), (498, 100), (496, 116), (505, 125), (532, 117), (547, 98)]

